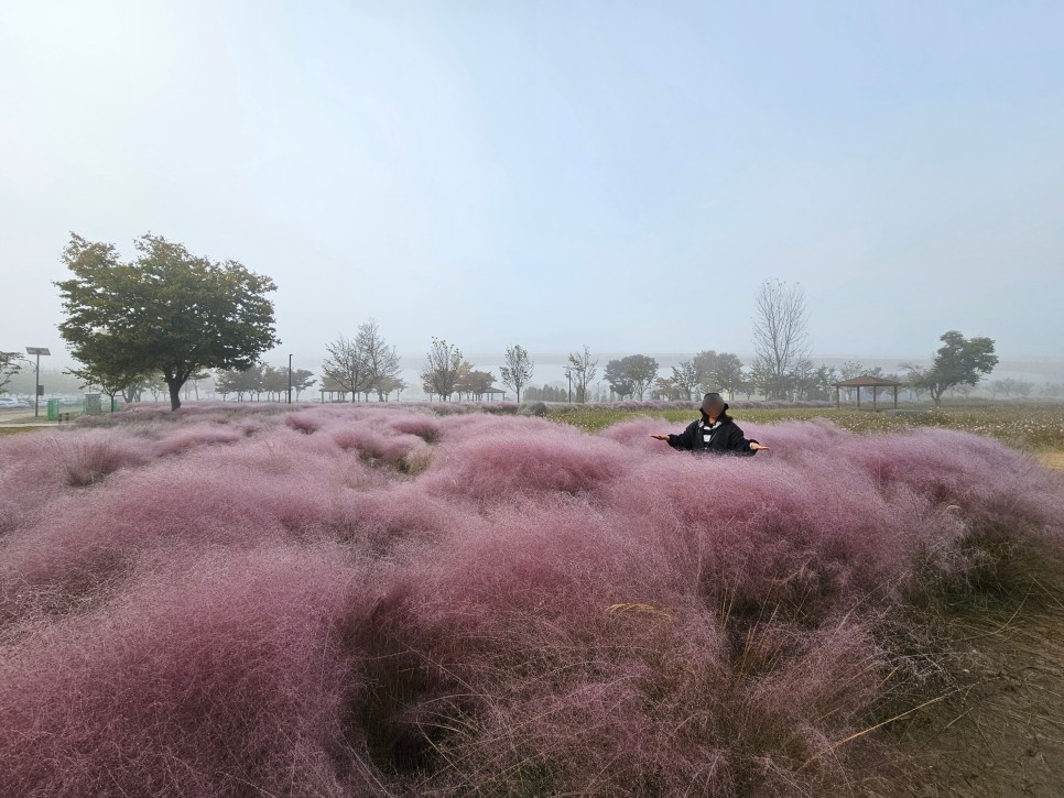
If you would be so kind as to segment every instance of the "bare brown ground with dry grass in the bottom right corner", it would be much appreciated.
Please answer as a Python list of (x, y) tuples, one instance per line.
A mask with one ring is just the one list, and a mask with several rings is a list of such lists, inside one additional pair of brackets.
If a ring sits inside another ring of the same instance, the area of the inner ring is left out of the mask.
[(888, 733), (922, 778), (894, 795), (1064, 795), (1064, 553), (1042, 560), (997, 608), (943, 616), (953, 684)]

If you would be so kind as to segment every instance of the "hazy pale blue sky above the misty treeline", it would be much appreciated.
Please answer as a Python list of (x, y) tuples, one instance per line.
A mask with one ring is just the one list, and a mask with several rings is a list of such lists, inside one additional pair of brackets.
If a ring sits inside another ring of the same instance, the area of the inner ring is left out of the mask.
[[(0, 0), (0, 349), (74, 230), (272, 276), (282, 348), (1064, 354), (1064, 3)], [(54, 361), (53, 361), (54, 362)], [(315, 368), (314, 363), (308, 363)]]

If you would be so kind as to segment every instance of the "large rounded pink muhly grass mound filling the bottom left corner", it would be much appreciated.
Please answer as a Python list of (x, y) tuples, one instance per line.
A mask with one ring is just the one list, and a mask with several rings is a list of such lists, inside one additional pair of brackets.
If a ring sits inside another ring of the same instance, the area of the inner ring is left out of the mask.
[(4, 790), (369, 794), (345, 740), (358, 593), (338, 555), (199, 558), (3, 652)]

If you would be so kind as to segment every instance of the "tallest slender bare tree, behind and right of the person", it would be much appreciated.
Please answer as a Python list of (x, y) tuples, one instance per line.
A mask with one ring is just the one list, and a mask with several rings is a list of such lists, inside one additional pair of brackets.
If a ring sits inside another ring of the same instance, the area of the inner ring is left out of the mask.
[(754, 302), (754, 369), (769, 376), (768, 398), (783, 398), (795, 368), (810, 357), (805, 291), (796, 283), (767, 280)]

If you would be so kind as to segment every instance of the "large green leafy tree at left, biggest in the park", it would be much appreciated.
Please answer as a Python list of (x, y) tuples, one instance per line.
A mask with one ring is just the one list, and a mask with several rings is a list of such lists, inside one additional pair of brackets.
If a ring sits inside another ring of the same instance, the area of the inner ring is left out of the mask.
[(66, 319), (59, 332), (89, 371), (161, 374), (172, 409), (203, 369), (248, 369), (280, 341), (273, 281), (236, 261), (216, 263), (146, 233), (123, 263), (112, 244), (70, 236), (56, 283)]

